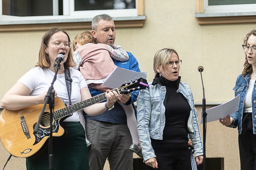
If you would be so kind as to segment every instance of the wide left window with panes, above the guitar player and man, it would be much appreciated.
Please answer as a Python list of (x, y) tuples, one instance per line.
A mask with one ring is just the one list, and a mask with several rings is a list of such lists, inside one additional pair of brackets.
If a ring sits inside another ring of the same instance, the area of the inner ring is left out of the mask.
[(90, 22), (103, 13), (115, 21), (145, 20), (144, 0), (0, 0), (0, 5), (0, 27)]

